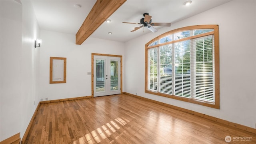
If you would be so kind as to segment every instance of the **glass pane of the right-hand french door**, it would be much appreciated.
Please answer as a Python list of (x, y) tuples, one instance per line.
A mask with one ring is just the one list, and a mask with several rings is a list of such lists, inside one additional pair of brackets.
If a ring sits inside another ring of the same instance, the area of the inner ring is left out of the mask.
[(118, 90), (118, 60), (110, 61), (110, 90)]

